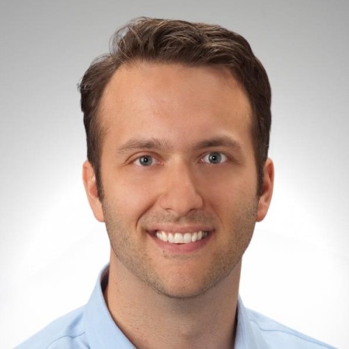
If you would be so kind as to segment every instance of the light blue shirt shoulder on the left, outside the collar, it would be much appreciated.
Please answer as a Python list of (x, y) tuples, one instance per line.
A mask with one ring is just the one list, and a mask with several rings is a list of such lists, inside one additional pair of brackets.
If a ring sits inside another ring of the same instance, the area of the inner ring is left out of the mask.
[(84, 307), (54, 320), (17, 349), (89, 348), (84, 331)]

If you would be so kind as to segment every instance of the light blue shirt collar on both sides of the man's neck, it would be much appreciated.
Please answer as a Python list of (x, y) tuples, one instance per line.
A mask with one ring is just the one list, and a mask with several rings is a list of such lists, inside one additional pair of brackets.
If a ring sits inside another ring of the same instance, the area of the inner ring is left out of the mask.
[[(91, 349), (135, 349), (121, 329), (117, 327), (103, 297), (103, 290), (107, 283), (109, 267), (105, 267), (98, 276), (98, 281), (84, 309), (84, 327)], [(237, 301), (237, 331), (235, 335), (235, 349), (260, 349), (263, 339), (258, 333), (253, 333), (251, 322), (242, 299)]]

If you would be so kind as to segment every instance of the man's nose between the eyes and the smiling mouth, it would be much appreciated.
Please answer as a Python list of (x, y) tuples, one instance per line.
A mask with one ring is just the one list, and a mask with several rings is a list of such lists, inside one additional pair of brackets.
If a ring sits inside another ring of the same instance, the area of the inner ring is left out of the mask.
[(198, 179), (195, 179), (189, 165), (177, 163), (165, 171), (163, 191), (159, 205), (176, 216), (186, 216), (203, 206), (202, 195), (198, 191)]

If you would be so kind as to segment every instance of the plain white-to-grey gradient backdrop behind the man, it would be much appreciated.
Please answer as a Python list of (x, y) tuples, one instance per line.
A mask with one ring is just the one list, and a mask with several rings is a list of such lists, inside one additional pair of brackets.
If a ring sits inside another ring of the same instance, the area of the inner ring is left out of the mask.
[(0, 348), (87, 302), (109, 257), (84, 195), (77, 82), (133, 17), (244, 35), (274, 92), (274, 200), (245, 255), (246, 306), (349, 348), (348, 1), (0, 3)]

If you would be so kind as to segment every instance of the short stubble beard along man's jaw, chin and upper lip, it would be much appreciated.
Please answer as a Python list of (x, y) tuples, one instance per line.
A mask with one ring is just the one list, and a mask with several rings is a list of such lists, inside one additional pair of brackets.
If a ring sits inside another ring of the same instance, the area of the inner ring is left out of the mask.
[[(198, 287), (193, 289), (186, 285), (184, 279), (179, 279), (179, 287), (173, 289), (167, 285), (164, 276), (156, 272), (156, 265), (154, 265), (154, 261), (151, 260), (147, 251), (139, 251), (135, 248), (136, 244), (133, 241), (132, 232), (128, 231), (122, 217), (117, 215), (117, 207), (114, 207), (114, 205), (110, 206), (103, 200), (105, 225), (109, 235), (112, 253), (114, 253), (117, 260), (129, 272), (156, 292), (176, 299), (204, 295), (233, 272), (251, 241), (255, 227), (257, 207), (257, 201), (253, 203), (249, 202), (246, 207), (240, 207), (238, 212), (232, 214), (232, 222), (230, 223), (230, 228), (228, 228), (230, 234), (227, 235), (226, 244), (224, 244), (220, 251), (215, 253), (213, 262), (211, 262), (209, 269), (202, 277), (202, 281), (200, 281)], [(147, 223), (179, 223), (178, 218), (164, 217), (161, 214), (149, 214), (149, 216), (144, 216), (143, 218)], [(181, 223), (207, 223), (210, 220), (212, 220), (211, 216), (198, 212), (181, 218)], [(183, 258), (186, 258), (186, 256)]]

